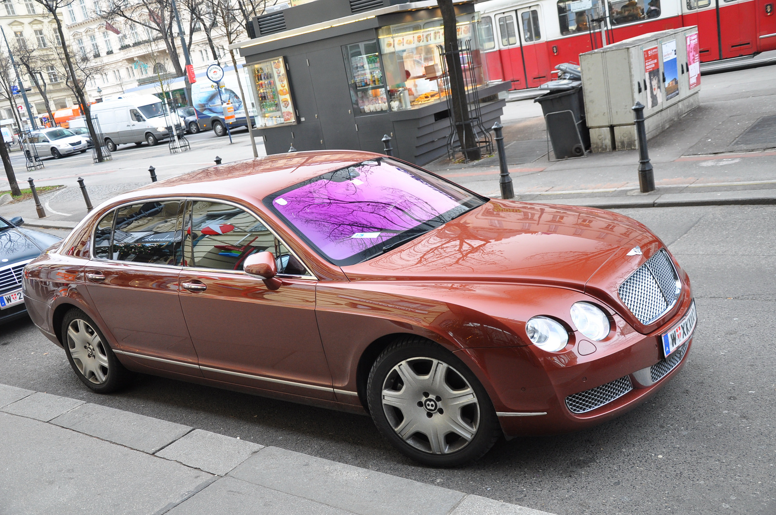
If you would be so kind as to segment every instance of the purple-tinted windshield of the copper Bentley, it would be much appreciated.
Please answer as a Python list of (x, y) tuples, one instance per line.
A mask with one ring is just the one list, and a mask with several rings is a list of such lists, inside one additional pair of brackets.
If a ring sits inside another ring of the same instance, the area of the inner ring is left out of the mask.
[(485, 201), (435, 175), (378, 158), (293, 185), (264, 204), (342, 266), (383, 254)]

